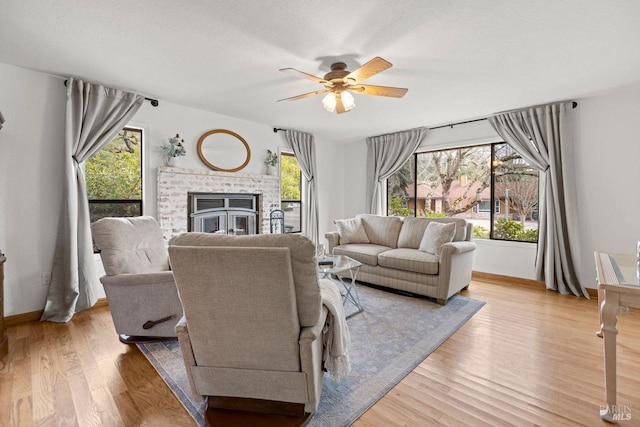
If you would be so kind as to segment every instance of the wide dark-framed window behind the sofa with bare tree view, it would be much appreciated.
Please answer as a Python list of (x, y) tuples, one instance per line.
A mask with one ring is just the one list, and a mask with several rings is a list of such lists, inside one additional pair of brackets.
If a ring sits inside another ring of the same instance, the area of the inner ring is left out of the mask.
[(464, 218), (477, 239), (538, 241), (538, 171), (505, 143), (416, 153), (387, 191), (388, 215)]

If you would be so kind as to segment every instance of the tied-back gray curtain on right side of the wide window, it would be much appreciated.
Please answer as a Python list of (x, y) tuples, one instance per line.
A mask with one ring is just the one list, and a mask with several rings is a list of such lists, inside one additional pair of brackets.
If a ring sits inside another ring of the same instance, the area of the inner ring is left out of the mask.
[(577, 228), (578, 220), (571, 212), (575, 206), (571, 202), (574, 171), (567, 170), (569, 159), (563, 161), (562, 152), (563, 146), (567, 146), (572, 138), (570, 110), (570, 103), (549, 104), (497, 114), (489, 117), (489, 123), (507, 144), (540, 172), (537, 279), (543, 280), (547, 289), (589, 298), (579, 283), (569, 243), (569, 239), (578, 237), (571, 233)]

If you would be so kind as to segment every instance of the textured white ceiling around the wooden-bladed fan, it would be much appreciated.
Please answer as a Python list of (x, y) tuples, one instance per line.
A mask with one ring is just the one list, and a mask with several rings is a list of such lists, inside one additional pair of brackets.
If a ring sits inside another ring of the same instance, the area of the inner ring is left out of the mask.
[[(637, 0), (0, 0), (0, 62), (338, 141), (637, 84), (639, 42)], [(276, 102), (374, 56), (404, 98)]]

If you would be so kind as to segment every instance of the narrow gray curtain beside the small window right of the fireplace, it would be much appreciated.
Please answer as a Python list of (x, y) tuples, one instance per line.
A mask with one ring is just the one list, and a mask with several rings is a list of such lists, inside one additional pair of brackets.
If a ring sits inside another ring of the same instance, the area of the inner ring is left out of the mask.
[(304, 200), (302, 203), (306, 207), (302, 213), (302, 223), (304, 224), (306, 236), (317, 246), (320, 237), (318, 232), (318, 187), (316, 177), (318, 168), (316, 167), (315, 137), (310, 133), (287, 130), (284, 137), (293, 149), (302, 175), (304, 175)]

